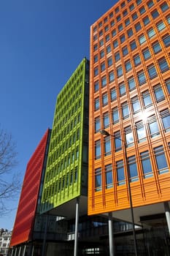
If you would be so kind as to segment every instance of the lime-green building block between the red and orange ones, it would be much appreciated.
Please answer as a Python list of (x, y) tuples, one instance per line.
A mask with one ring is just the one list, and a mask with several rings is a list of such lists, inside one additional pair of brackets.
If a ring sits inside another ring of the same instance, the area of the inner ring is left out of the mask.
[(88, 98), (89, 61), (83, 59), (56, 100), (41, 213), (68, 216), (71, 211), (63, 203), (87, 198)]

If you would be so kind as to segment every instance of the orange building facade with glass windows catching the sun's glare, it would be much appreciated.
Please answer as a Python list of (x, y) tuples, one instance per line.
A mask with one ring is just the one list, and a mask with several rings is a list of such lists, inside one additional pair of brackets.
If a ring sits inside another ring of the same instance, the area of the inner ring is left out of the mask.
[(130, 208), (128, 177), (134, 209), (170, 200), (169, 56), (169, 1), (118, 1), (90, 27), (88, 214)]

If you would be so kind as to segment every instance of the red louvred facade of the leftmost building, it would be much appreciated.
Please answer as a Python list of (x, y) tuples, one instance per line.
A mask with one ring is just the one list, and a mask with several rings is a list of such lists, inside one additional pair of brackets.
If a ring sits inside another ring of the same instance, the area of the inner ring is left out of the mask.
[(31, 239), (49, 136), (50, 129), (47, 129), (26, 167), (10, 246), (22, 244)]

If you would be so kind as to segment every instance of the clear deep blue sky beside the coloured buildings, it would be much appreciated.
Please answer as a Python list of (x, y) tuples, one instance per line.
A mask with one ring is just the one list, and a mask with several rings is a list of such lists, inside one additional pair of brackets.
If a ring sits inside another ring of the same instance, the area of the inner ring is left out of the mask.
[[(74, 69), (89, 59), (90, 25), (115, 0), (0, 1), (0, 124), (17, 143), (20, 180), (52, 127), (55, 99)], [(15, 171), (15, 170), (14, 170)], [(0, 227), (12, 229), (16, 198)]]

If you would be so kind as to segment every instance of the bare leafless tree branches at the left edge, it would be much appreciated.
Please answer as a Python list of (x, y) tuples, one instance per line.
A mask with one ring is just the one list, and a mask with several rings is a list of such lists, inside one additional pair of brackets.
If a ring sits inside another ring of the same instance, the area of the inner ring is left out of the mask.
[(11, 210), (9, 201), (14, 200), (20, 190), (20, 176), (15, 173), (16, 157), (12, 135), (0, 128), (0, 217)]

